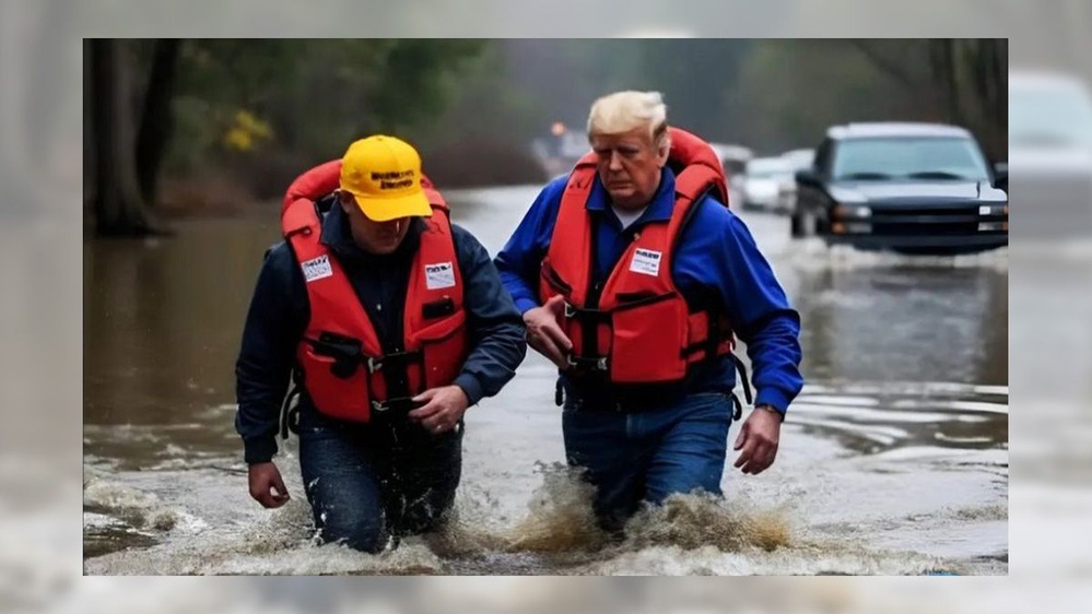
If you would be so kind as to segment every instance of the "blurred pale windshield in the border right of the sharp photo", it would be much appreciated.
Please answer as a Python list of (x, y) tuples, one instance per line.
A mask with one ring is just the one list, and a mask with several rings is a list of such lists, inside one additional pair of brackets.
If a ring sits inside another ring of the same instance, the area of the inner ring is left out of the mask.
[(1009, 142), (1092, 146), (1092, 97), (1077, 84), (1010, 84)]

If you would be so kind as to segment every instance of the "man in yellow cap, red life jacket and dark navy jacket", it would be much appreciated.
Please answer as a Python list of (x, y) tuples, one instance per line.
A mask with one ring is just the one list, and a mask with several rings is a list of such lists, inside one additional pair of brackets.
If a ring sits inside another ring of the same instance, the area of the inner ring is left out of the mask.
[(451, 508), (463, 413), (515, 375), (522, 318), (482, 245), (448, 221), (418, 152), (394, 137), (301, 175), (281, 225), (236, 363), (250, 496), (289, 499), (272, 461), (280, 418), (282, 436), (300, 436), (321, 539), (379, 552)]

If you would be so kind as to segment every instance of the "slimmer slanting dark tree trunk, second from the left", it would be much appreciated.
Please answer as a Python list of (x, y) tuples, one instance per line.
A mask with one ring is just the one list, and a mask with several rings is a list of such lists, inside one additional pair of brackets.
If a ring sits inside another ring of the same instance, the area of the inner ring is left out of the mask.
[(144, 110), (137, 137), (137, 178), (140, 193), (148, 206), (155, 206), (155, 187), (163, 163), (163, 154), (174, 123), (171, 101), (174, 98), (175, 75), (178, 68), (179, 38), (160, 38), (155, 42), (152, 72), (144, 95)]

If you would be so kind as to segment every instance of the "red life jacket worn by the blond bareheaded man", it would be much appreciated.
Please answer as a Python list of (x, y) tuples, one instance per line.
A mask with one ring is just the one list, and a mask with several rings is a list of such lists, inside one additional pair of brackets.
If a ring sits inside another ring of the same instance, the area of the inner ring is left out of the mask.
[(724, 168), (703, 140), (669, 130), (668, 164), (682, 167), (671, 219), (635, 234), (598, 297), (591, 288), (595, 225), (586, 206), (596, 179), (595, 153), (580, 158), (570, 176), (542, 261), (539, 295), (543, 304), (557, 294), (565, 297), (562, 324), (573, 342), (574, 374), (606, 371), (614, 385), (679, 383), (692, 365), (730, 354), (735, 346), (724, 309), (713, 302), (688, 305), (671, 276), (676, 243), (694, 203), (709, 190), (728, 203)]

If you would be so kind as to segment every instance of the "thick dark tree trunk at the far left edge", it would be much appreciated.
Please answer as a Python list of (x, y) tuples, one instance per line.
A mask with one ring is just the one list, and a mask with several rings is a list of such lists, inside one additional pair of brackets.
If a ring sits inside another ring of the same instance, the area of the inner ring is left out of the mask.
[(129, 108), (129, 64), (119, 43), (93, 39), (91, 90), (95, 139), (95, 232), (99, 236), (144, 236), (152, 232), (137, 182), (133, 121)]

